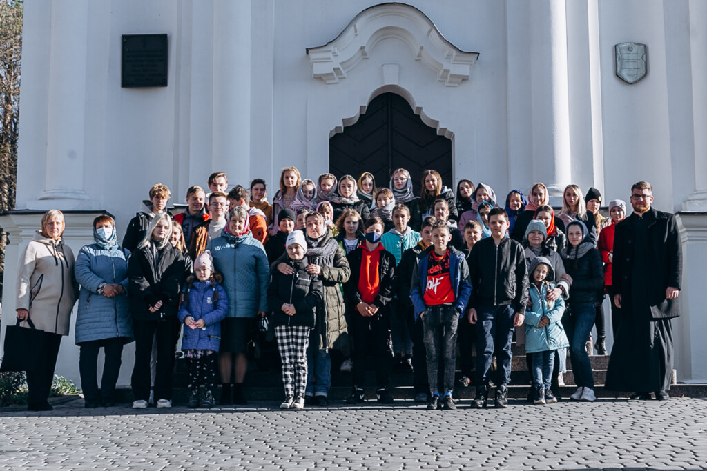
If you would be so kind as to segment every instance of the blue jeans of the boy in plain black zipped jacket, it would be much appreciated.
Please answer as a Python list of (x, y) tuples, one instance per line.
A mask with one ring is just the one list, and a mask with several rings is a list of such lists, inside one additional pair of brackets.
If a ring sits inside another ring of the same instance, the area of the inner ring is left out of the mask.
[(493, 355), (496, 355), (498, 364), (493, 382), (496, 386), (506, 386), (510, 381), (513, 316), (515, 312), (509, 305), (477, 308), (477, 386), (489, 383)]

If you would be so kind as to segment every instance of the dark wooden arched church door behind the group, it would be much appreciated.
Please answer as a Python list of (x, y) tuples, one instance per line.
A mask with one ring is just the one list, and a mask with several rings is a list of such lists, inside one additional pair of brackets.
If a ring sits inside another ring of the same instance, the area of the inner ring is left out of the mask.
[(424, 124), (403, 97), (384, 93), (370, 102), (355, 124), (329, 139), (329, 172), (356, 179), (370, 172), (377, 186), (388, 186), (390, 172), (398, 167), (410, 172), (415, 194), (425, 169), (440, 172), (451, 188), (452, 141)]

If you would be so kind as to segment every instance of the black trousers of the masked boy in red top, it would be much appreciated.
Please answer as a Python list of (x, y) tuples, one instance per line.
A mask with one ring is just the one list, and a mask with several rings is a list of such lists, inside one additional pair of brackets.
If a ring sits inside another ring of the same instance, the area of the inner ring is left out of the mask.
[(375, 316), (363, 317), (351, 311), (351, 334), (354, 337), (354, 386), (362, 388), (366, 380), (366, 353), (370, 347), (375, 357), (375, 385), (387, 388), (393, 349), (390, 341), (390, 309), (385, 306)]

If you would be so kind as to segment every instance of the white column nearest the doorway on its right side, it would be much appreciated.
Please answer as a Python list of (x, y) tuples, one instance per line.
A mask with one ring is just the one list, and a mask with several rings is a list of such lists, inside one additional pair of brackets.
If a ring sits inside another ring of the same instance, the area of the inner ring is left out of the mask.
[(571, 181), (566, 6), (564, 0), (532, 1), (528, 9), (532, 174), (559, 204)]

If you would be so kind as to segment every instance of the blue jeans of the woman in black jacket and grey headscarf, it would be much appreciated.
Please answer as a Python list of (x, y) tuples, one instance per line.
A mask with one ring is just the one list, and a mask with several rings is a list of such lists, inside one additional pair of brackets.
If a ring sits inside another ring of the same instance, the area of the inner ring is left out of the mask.
[(567, 323), (567, 338), (570, 340), (570, 359), (575, 384), (585, 388), (594, 388), (592, 363), (585, 345), (595, 321), (594, 303), (571, 303), (570, 317)]

